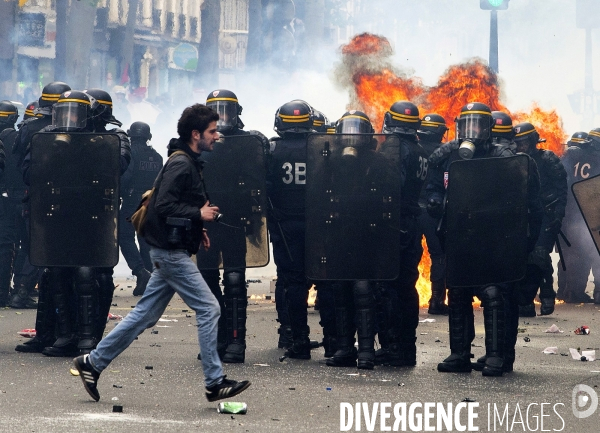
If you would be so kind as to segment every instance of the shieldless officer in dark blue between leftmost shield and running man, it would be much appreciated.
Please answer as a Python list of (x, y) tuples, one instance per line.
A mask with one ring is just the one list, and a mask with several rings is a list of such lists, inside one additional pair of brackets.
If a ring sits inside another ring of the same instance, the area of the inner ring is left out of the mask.
[(119, 213), (119, 245), (131, 273), (136, 277), (133, 295), (141, 296), (152, 272), (150, 247), (143, 237), (138, 236), (138, 249), (135, 230), (127, 219), (137, 210), (142, 194), (152, 188), (154, 179), (162, 168), (163, 159), (149, 144), (152, 134), (147, 123), (133, 122), (127, 135), (131, 140), (131, 162), (121, 178), (123, 203)]

